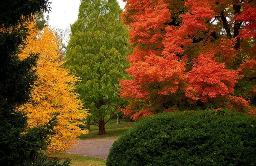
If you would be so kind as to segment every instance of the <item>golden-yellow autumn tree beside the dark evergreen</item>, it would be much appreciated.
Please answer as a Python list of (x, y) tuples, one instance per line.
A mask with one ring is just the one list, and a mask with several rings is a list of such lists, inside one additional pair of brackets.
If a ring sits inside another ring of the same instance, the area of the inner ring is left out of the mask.
[(81, 133), (87, 133), (78, 125), (82, 124), (79, 119), (86, 118), (88, 112), (82, 109), (82, 101), (73, 92), (78, 78), (62, 67), (58, 51), (61, 43), (56, 34), (47, 26), (42, 31), (34, 25), (28, 27), (30, 35), (19, 57), (24, 59), (28, 53), (40, 53), (36, 67), (38, 81), (34, 84), (32, 102), (21, 109), (27, 111), (30, 127), (43, 125), (60, 112), (48, 151), (62, 152), (70, 148)]

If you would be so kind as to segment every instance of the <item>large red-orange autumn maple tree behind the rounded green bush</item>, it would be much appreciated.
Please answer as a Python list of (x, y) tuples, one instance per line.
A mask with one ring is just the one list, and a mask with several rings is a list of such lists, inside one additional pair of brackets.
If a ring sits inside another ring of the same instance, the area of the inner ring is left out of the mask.
[(135, 119), (163, 111), (256, 104), (256, 2), (125, 0), (135, 47), (121, 81), (123, 111)]

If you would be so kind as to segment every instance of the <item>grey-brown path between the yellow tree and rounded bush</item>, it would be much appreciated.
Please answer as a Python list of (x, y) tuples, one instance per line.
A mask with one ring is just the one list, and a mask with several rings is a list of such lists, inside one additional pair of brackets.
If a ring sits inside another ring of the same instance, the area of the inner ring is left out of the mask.
[(117, 139), (85, 139), (80, 140), (65, 153), (107, 159), (112, 144)]

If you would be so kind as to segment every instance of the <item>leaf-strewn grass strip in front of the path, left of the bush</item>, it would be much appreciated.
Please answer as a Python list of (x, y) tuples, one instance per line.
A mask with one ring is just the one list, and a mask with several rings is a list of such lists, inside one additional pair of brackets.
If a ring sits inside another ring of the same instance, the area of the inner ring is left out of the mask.
[(48, 156), (51, 157), (58, 157), (61, 161), (70, 158), (71, 166), (105, 166), (106, 160), (100, 158), (93, 158), (93, 157), (86, 157), (80, 156), (77, 154), (66, 154), (66, 153), (49, 153)]

